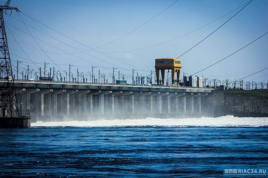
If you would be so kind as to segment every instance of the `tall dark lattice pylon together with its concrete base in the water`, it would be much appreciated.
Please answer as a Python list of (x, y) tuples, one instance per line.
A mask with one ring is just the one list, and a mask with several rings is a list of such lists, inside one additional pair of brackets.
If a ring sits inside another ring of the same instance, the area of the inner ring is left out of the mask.
[(7, 35), (4, 25), (4, 10), (20, 10), (16, 7), (9, 7), (10, 0), (4, 6), (0, 6), (0, 59), (1, 59), (1, 81), (4, 81), (0, 87), (0, 127), (28, 127), (31, 117), (29, 114), (22, 117), (18, 110), (17, 97), (14, 85), (14, 76), (11, 67), (10, 54), (7, 45)]

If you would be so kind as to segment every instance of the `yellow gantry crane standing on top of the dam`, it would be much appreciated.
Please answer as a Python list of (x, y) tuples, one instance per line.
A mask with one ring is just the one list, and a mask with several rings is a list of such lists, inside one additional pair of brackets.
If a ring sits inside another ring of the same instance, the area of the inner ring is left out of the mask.
[(165, 81), (165, 70), (171, 69), (171, 76), (172, 76), (172, 86), (174, 86), (174, 77), (175, 72), (177, 72), (177, 86), (179, 85), (179, 79), (180, 79), (180, 59), (177, 58), (156, 58), (155, 59), (155, 73), (156, 73), (156, 80), (157, 85), (159, 85), (159, 71), (161, 70), (161, 76), (162, 76), (162, 85), (164, 85)]

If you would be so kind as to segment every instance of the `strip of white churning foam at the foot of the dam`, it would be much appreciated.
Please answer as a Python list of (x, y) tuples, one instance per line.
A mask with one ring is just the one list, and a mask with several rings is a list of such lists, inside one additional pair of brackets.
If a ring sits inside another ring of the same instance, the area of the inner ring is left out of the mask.
[(94, 121), (62, 121), (62, 122), (36, 122), (31, 123), (33, 127), (112, 127), (112, 126), (167, 126), (167, 127), (260, 127), (268, 126), (268, 117), (201, 117), (182, 119), (114, 119), (114, 120), (94, 120)]

